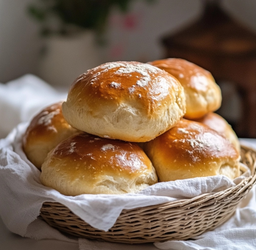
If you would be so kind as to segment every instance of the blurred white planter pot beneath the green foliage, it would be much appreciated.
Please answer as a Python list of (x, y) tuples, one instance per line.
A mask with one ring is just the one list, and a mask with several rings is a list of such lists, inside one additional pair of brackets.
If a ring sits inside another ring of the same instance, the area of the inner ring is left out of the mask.
[(46, 53), (39, 59), (38, 75), (55, 87), (69, 88), (76, 77), (102, 63), (91, 31), (72, 37), (51, 37), (46, 46)]

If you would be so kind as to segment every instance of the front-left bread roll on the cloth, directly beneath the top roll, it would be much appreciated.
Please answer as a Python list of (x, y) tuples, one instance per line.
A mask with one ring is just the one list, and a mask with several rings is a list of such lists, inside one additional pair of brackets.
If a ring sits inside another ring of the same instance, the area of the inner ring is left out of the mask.
[(86, 133), (61, 142), (42, 165), (41, 181), (65, 195), (138, 192), (158, 179), (136, 144)]

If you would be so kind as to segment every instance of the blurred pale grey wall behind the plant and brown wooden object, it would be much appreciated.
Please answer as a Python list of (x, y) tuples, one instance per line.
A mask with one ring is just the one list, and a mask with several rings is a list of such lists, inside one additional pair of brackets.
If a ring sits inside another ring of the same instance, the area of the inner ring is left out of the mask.
[[(38, 26), (26, 12), (31, 1), (0, 0), (0, 82), (38, 72), (41, 48)], [(222, 5), (256, 32), (256, 0), (225, 0)], [(107, 32), (109, 44), (102, 50), (102, 62), (146, 62), (162, 57), (159, 38), (195, 20), (200, 11), (199, 0), (156, 0), (152, 5), (141, 0), (131, 8), (131, 14), (138, 19), (134, 29), (123, 29), (123, 17), (114, 11)], [(117, 53), (113, 53), (115, 50)]]

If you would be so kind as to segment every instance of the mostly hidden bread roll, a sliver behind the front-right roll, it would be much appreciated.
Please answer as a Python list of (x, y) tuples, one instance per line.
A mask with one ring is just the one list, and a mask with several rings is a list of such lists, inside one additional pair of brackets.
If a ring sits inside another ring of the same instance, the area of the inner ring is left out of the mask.
[(240, 152), (240, 143), (238, 137), (232, 127), (227, 123), (227, 121), (216, 113), (208, 113), (204, 117), (195, 120), (196, 122), (201, 122), (209, 126), (211, 129), (224, 135)]

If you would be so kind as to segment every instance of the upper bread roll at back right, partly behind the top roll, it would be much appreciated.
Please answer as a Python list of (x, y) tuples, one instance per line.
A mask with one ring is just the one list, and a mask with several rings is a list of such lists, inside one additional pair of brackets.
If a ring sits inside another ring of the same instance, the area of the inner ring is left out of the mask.
[(201, 118), (220, 107), (221, 91), (209, 71), (178, 58), (167, 58), (149, 63), (175, 76), (184, 87), (186, 95), (184, 118), (190, 120)]

